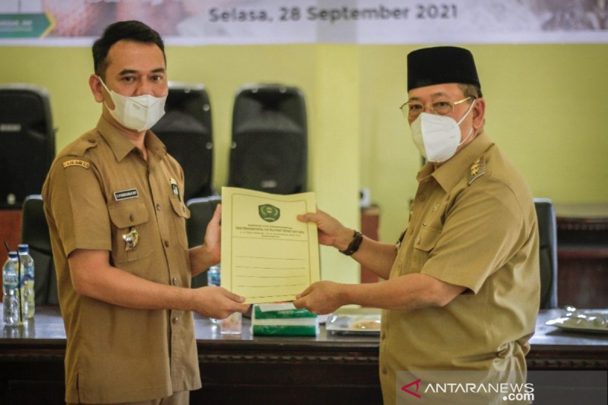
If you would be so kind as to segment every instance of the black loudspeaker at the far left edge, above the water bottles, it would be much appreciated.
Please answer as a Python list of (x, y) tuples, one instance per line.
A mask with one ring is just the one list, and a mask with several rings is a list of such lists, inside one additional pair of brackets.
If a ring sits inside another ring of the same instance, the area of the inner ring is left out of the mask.
[(48, 92), (31, 84), (0, 86), (0, 207), (21, 208), (40, 194), (55, 157)]

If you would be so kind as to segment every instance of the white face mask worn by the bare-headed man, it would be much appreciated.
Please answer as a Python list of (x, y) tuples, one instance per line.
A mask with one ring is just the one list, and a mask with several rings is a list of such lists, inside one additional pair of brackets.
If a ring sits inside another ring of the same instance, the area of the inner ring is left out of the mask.
[(147, 131), (165, 115), (166, 95), (164, 97), (154, 97), (150, 94), (144, 94), (137, 97), (126, 97), (114, 90), (109, 90), (101, 78), (99, 78), (99, 81), (108, 90), (114, 102), (113, 110), (106, 104), (108, 111), (116, 121), (126, 128)]

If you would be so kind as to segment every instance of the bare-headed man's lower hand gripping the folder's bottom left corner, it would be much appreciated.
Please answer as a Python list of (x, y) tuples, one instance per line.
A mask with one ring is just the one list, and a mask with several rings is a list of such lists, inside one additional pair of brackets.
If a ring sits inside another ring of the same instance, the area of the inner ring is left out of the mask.
[(194, 311), (209, 318), (224, 319), (233, 312), (245, 313), (250, 304), (243, 304), (244, 297), (233, 294), (222, 287), (201, 287), (193, 290), (195, 293)]

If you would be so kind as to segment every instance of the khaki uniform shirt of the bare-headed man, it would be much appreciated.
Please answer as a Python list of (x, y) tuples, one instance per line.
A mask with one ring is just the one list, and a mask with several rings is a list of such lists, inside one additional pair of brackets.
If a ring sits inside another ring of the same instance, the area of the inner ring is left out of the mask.
[[(150, 131), (145, 146), (148, 162), (102, 117), (57, 155), (43, 186), (67, 335), (68, 403), (140, 401), (201, 387), (192, 313), (119, 307), (72, 285), (67, 257), (91, 249), (110, 251), (111, 265), (138, 277), (190, 287), (183, 172)], [(123, 235), (130, 231), (139, 242), (128, 250)]]

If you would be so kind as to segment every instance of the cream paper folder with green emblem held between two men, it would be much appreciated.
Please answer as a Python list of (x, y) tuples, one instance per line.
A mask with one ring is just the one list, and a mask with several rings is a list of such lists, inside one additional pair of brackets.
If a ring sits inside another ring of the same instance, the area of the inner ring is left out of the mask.
[(247, 303), (292, 301), (319, 281), (314, 192), (282, 196), (222, 188), (221, 285)]

